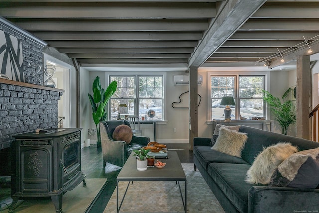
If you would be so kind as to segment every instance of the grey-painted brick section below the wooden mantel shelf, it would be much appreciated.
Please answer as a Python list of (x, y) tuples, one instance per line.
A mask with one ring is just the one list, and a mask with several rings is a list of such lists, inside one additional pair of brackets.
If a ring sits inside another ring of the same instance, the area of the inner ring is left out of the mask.
[(57, 128), (61, 92), (0, 84), (0, 144), (11, 135), (39, 128)]

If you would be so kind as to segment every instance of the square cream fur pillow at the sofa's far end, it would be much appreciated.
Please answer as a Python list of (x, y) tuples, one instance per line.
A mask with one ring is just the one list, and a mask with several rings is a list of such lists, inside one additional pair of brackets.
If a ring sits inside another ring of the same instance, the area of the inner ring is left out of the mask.
[(236, 132), (221, 127), (216, 143), (211, 149), (241, 158), (241, 151), (243, 150), (246, 141), (247, 133)]

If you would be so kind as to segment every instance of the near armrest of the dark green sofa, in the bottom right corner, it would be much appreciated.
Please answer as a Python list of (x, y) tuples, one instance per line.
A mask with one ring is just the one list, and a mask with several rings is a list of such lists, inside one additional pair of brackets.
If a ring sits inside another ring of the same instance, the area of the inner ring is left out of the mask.
[(319, 189), (254, 186), (248, 192), (249, 213), (318, 212)]

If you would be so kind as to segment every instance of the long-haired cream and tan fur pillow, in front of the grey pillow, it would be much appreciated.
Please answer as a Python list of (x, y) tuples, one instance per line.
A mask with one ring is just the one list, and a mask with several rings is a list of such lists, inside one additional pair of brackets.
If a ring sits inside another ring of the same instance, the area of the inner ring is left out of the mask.
[(269, 184), (277, 166), (295, 152), (298, 152), (297, 147), (285, 142), (264, 148), (247, 171), (245, 181), (251, 184)]

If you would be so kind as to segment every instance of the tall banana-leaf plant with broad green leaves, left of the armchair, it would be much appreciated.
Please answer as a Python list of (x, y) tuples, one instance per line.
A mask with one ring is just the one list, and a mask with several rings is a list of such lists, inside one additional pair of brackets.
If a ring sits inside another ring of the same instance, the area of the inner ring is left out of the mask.
[(114, 94), (117, 88), (117, 82), (112, 81), (106, 90), (101, 88), (100, 77), (97, 76), (94, 79), (92, 90), (93, 96), (88, 93), (89, 100), (92, 106), (92, 117), (96, 126), (97, 134), (97, 147), (101, 147), (101, 137), (100, 137), (100, 121), (105, 121), (108, 115), (107, 112), (107, 103), (110, 100), (111, 96)]

